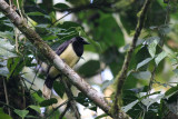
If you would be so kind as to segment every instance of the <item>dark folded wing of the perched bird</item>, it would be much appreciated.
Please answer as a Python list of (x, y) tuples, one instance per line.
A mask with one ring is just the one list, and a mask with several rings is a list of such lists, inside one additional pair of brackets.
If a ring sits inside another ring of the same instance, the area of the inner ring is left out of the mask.
[(71, 42), (72, 42), (72, 40), (65, 41), (62, 44), (60, 44), (58, 47), (58, 49), (56, 50), (56, 53), (58, 56), (60, 56), (65, 51), (65, 49), (69, 46), (69, 43), (71, 43)]

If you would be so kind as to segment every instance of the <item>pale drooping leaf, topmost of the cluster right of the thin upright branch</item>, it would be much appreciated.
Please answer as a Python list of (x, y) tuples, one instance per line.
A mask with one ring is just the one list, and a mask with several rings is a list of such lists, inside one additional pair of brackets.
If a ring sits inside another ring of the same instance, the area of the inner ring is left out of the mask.
[(156, 53), (156, 48), (157, 48), (157, 44), (159, 42), (159, 39), (155, 39), (149, 46), (148, 46), (148, 51), (150, 53), (150, 56), (154, 58), (155, 57), (155, 53)]

